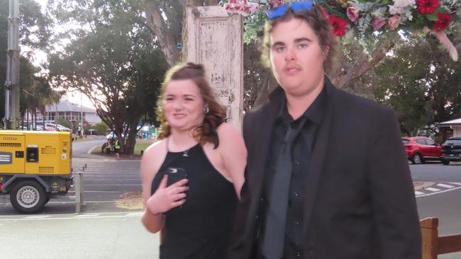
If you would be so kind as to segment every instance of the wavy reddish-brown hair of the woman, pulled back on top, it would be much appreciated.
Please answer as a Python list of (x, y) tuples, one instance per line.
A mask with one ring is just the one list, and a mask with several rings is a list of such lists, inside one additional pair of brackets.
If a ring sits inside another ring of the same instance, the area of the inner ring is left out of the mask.
[(186, 80), (191, 79), (194, 81), (196, 86), (199, 88), (201, 97), (204, 100), (204, 105), (208, 108), (208, 112), (205, 113), (204, 122), (194, 129), (193, 136), (200, 144), (206, 144), (211, 142), (214, 144), (216, 149), (219, 146), (219, 138), (216, 129), (226, 118), (226, 110), (221, 106), (211, 89), (208, 81), (205, 79), (205, 69), (201, 64), (194, 63), (180, 63), (172, 67), (165, 74), (165, 80), (162, 83), (162, 90), (160, 92), (160, 98), (157, 100), (157, 109), (155, 114), (157, 120), (160, 120), (160, 132), (158, 134), (159, 139), (169, 137), (171, 134), (171, 128), (168, 124), (164, 114), (164, 100), (165, 100), (165, 88), (167, 84), (172, 80)]

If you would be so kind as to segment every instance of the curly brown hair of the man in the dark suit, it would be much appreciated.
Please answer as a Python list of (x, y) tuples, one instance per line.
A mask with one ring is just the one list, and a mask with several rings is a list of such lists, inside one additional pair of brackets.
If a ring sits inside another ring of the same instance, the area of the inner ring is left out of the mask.
[[(331, 25), (327, 18), (323, 15), (323, 9), (320, 5), (314, 5), (309, 11), (293, 12), (289, 8), (283, 16), (273, 20), (267, 20), (264, 27), (264, 36), (262, 37), (261, 45), (261, 62), (267, 68), (272, 68), (270, 62), (270, 33), (272, 28), (277, 24), (290, 21), (293, 18), (300, 19), (309, 24), (313, 32), (317, 35), (318, 44), (322, 47), (326, 55), (326, 61), (323, 63), (323, 69), (328, 72), (333, 72), (335, 69), (335, 59), (338, 54), (338, 40), (331, 32)], [(327, 50), (328, 47), (328, 50)]]

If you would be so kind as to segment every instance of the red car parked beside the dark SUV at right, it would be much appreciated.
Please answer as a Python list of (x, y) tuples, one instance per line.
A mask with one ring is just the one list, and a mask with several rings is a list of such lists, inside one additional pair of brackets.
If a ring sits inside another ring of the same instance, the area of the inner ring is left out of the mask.
[(406, 157), (411, 163), (424, 163), (425, 161), (441, 161), (442, 146), (428, 137), (402, 137)]

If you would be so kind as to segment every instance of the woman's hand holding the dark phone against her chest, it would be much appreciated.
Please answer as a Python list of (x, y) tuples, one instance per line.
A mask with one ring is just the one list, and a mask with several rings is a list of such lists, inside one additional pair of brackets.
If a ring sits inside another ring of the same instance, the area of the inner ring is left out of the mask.
[(149, 197), (147, 207), (150, 213), (158, 215), (165, 213), (174, 207), (178, 207), (186, 202), (185, 191), (189, 187), (184, 186), (187, 179), (182, 179), (167, 187), (168, 175), (164, 175), (160, 185), (152, 196)]

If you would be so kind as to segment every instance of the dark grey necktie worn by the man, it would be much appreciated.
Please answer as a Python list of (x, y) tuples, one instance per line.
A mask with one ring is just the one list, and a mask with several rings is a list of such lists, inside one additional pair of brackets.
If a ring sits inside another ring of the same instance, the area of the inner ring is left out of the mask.
[(306, 122), (306, 118), (303, 116), (297, 127), (289, 127), (279, 152), (279, 159), (267, 199), (268, 209), (261, 247), (262, 255), (266, 259), (280, 259), (283, 255), (293, 163), (292, 148), (294, 139), (304, 126), (304, 122)]

